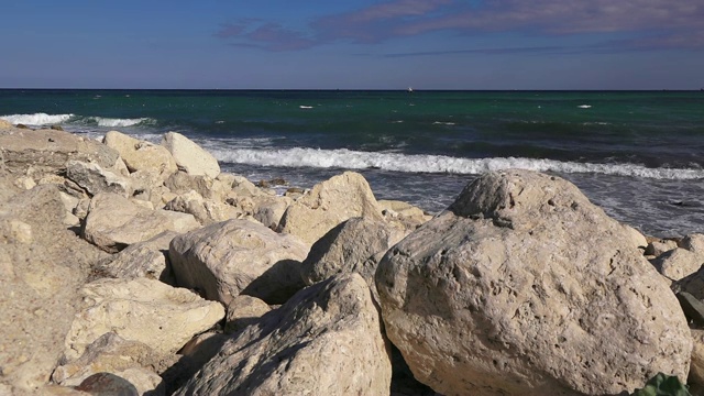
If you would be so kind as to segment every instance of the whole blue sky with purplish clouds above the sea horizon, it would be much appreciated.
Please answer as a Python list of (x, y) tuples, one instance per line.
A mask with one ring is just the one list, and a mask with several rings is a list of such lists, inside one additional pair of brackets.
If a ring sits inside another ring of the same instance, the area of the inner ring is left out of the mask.
[(2, 88), (700, 89), (704, 0), (9, 0)]

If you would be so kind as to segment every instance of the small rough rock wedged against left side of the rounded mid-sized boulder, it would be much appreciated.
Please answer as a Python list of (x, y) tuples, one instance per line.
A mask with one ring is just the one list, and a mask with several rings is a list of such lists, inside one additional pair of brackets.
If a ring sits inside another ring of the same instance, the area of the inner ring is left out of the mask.
[(179, 233), (174, 231), (164, 231), (147, 241), (131, 244), (102, 261), (96, 270), (109, 277), (146, 277), (173, 285), (174, 274), (167, 264), (168, 244), (178, 235)]

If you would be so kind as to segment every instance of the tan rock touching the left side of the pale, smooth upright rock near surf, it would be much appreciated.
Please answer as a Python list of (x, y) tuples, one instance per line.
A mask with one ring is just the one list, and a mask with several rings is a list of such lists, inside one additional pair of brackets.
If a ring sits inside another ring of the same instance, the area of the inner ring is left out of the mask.
[(106, 133), (102, 142), (120, 153), (130, 172), (155, 170), (163, 182), (178, 170), (176, 161), (164, 146), (140, 141), (118, 131)]

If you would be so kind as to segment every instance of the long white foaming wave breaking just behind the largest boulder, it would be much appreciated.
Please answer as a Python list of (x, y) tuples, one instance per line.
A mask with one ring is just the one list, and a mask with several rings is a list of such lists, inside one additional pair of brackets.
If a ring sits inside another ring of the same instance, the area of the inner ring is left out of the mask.
[(586, 173), (656, 179), (702, 179), (702, 169), (648, 168), (635, 164), (593, 164), (520, 157), (458, 158), (442, 155), (358, 152), (351, 150), (253, 150), (211, 148), (218, 161), (235, 164), (283, 167), (320, 167), (406, 173), (481, 174), (488, 170), (520, 168), (537, 172)]

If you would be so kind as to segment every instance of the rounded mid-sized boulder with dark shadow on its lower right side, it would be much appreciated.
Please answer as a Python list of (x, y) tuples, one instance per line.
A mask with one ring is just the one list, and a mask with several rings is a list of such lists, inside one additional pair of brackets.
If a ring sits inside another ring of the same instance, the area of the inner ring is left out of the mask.
[(304, 284), (300, 261), (308, 249), (249, 220), (210, 224), (172, 241), (168, 255), (178, 285), (202, 290), (224, 305), (239, 294), (280, 304)]

